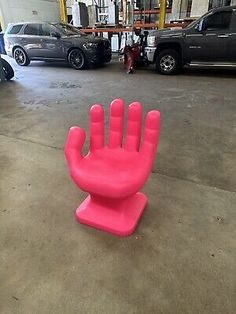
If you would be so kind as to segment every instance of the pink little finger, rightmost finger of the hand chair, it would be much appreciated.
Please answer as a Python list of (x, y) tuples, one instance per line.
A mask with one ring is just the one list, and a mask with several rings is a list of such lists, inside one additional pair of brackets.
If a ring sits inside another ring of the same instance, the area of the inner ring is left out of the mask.
[(160, 112), (149, 111), (146, 116), (141, 154), (154, 159), (160, 132)]

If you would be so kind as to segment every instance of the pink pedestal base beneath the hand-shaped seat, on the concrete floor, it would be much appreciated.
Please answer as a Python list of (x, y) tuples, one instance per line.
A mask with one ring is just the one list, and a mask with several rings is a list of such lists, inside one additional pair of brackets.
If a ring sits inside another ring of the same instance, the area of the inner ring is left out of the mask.
[(88, 196), (76, 210), (76, 219), (91, 227), (118, 236), (132, 234), (147, 204), (143, 193), (124, 200), (107, 200)]

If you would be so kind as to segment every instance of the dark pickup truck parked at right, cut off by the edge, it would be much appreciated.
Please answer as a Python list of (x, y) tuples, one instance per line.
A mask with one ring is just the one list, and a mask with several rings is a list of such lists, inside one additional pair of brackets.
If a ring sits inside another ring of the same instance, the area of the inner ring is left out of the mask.
[(149, 33), (146, 58), (159, 73), (191, 63), (236, 63), (236, 6), (213, 9), (183, 29)]

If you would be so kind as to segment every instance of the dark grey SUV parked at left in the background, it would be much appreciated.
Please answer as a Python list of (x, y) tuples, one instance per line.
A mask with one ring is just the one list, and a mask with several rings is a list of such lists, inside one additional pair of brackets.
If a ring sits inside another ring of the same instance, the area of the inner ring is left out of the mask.
[(67, 61), (76, 70), (110, 62), (110, 42), (64, 23), (17, 23), (6, 30), (5, 49), (19, 65), (31, 60)]

